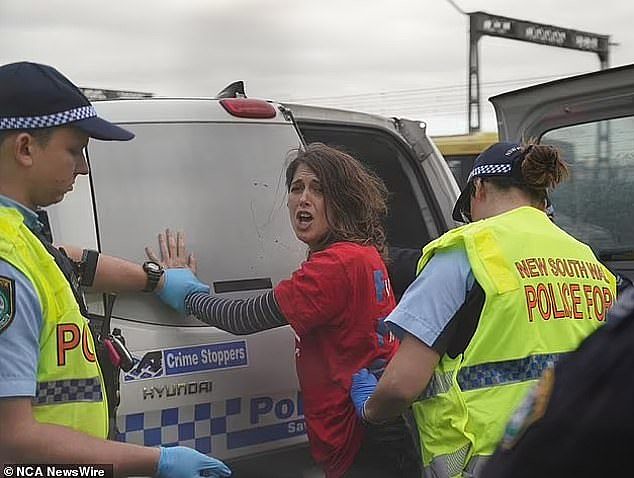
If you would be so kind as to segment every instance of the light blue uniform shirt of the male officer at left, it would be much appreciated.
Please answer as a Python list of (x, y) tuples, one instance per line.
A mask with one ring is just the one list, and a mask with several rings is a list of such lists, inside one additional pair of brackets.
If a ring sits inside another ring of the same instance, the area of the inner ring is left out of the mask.
[[(29, 229), (40, 230), (35, 212), (1, 195), (0, 206), (17, 209)], [(42, 306), (26, 276), (2, 259), (0, 276), (13, 280), (15, 286), (15, 315), (0, 331), (0, 397), (33, 397), (40, 355)]]

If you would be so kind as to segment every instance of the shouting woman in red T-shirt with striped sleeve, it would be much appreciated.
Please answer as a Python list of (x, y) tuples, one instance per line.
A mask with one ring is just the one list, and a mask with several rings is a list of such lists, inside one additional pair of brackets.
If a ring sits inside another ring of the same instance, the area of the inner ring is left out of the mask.
[[(227, 300), (211, 296), (189, 269), (171, 268), (159, 296), (234, 334), (290, 324), (308, 439), (328, 478), (420, 476), (404, 421), (366, 427), (349, 398), (350, 377), (384, 367), (398, 346), (382, 320), (395, 306), (383, 260), (385, 185), (350, 155), (313, 143), (289, 164), (286, 187), (293, 230), (308, 245), (290, 279), (261, 296)], [(166, 264), (183, 265), (184, 244), (165, 236), (159, 243)]]

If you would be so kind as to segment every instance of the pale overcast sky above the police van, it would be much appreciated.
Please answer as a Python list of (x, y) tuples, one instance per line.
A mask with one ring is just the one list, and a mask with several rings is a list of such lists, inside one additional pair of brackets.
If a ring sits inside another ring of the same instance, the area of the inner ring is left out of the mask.
[[(611, 65), (634, 62), (627, 0), (456, 0), (464, 11), (611, 35)], [(38, 61), (81, 86), (247, 94), (424, 120), (466, 122), (467, 17), (446, 0), (0, 0), (0, 62)], [(598, 69), (593, 53), (484, 37), (491, 94)], [(495, 128), (492, 109), (483, 127)]]

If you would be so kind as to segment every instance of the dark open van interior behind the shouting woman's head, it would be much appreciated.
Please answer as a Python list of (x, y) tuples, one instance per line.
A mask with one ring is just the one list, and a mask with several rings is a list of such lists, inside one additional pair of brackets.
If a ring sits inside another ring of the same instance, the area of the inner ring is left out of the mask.
[(388, 134), (369, 128), (299, 126), (307, 143), (319, 141), (341, 149), (383, 179), (390, 192), (385, 229), (391, 246), (420, 249), (431, 240), (412, 189), (411, 181), (416, 179), (409, 154), (402, 145)]

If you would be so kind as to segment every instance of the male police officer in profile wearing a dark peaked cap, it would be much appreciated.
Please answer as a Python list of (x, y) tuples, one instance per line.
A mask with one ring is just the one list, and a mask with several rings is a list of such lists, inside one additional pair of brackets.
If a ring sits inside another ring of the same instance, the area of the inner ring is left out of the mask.
[[(228, 476), (222, 462), (190, 448), (105, 440), (107, 399), (93, 336), (68, 259), (48, 243), (36, 214), (88, 173), (90, 137), (134, 135), (99, 118), (54, 68), (0, 67), (0, 464), (111, 463), (118, 476)], [(86, 267), (80, 249), (68, 251)], [(140, 265), (92, 257), (89, 282), (98, 289), (150, 290), (160, 280)]]

